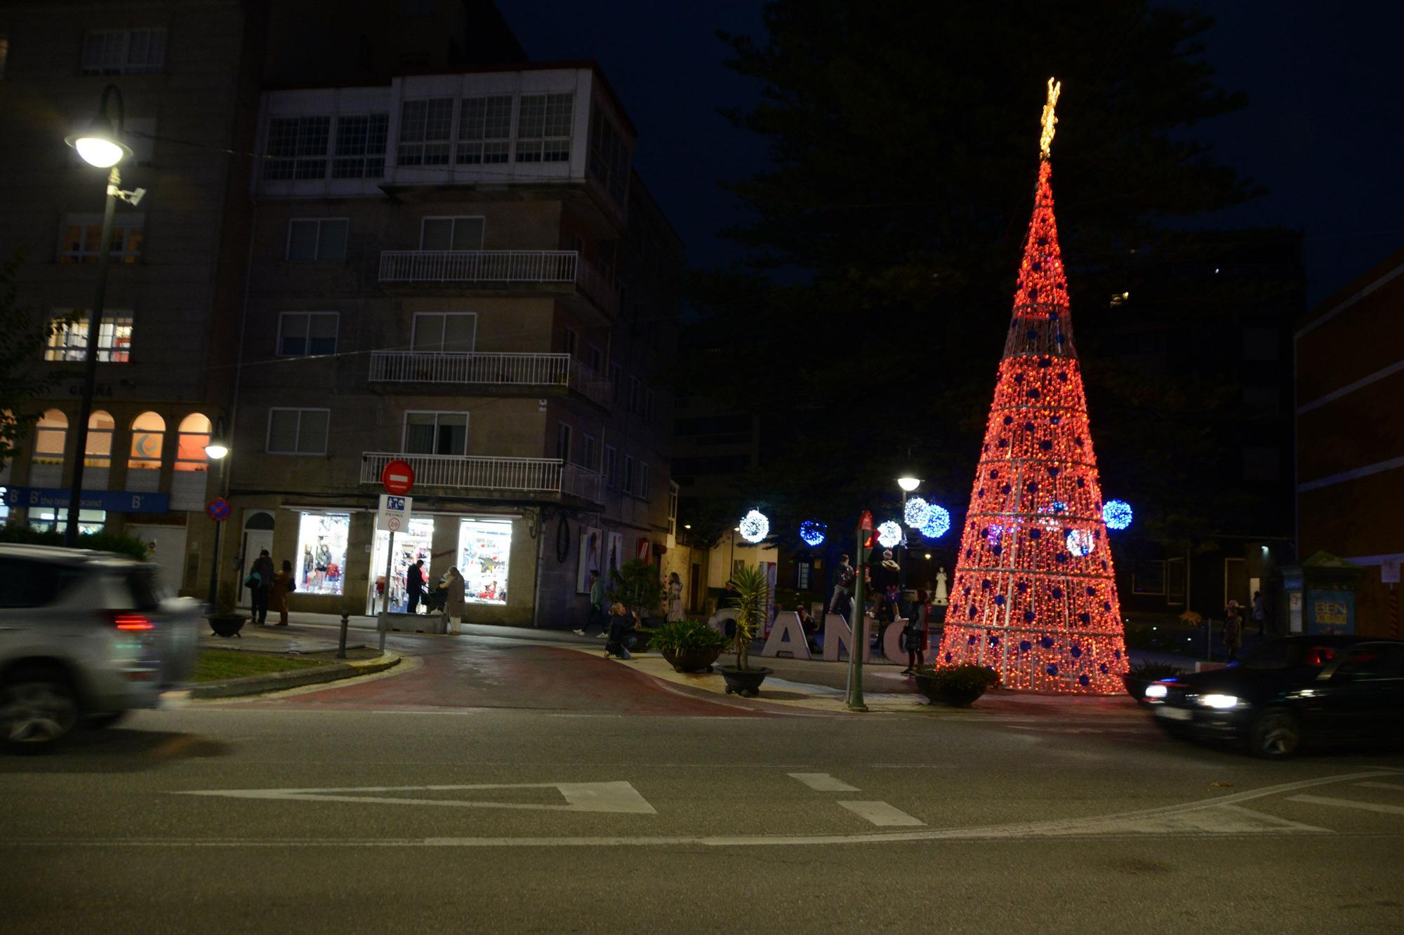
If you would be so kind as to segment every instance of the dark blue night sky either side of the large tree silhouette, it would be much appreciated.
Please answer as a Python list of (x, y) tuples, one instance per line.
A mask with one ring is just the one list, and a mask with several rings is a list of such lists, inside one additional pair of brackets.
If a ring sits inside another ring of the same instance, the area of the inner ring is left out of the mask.
[[(762, 168), (765, 142), (717, 114), (748, 107), (758, 84), (723, 67), (727, 46), (713, 34), (761, 37), (761, 0), (498, 7), (532, 59), (600, 62), (639, 128), (635, 166), (691, 264), (736, 260), (717, 232), (743, 215), (717, 183)], [(1210, 10), (1217, 25), (1206, 55), (1220, 84), (1245, 90), (1250, 102), (1196, 132), (1269, 191), (1203, 223), (1303, 229), (1316, 303), (1404, 246), (1404, 4), (1236, 0)], [(1031, 90), (1031, 126), (1040, 94)]]

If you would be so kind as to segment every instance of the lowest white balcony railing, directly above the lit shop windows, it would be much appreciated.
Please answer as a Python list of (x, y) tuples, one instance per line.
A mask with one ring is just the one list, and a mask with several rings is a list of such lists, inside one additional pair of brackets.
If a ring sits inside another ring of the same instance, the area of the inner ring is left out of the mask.
[(459, 458), (455, 455), (404, 455), (365, 452), (361, 483), (380, 483), (385, 465), (396, 458), (414, 468), (416, 487), (491, 490), (497, 493), (567, 494), (602, 503), (604, 477), (559, 458)]

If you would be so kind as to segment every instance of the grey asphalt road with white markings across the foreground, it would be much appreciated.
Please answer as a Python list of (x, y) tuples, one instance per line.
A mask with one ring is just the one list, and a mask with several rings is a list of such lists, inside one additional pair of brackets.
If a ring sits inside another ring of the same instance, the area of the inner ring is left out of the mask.
[(774, 713), (569, 649), (0, 758), (7, 931), (1398, 931), (1404, 757)]

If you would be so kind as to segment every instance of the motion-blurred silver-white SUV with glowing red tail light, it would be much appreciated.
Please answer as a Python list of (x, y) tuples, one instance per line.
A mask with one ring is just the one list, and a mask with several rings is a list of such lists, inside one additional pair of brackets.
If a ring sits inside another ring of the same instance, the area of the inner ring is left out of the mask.
[(0, 741), (44, 747), (105, 727), (195, 665), (201, 605), (157, 566), (107, 552), (0, 545)]

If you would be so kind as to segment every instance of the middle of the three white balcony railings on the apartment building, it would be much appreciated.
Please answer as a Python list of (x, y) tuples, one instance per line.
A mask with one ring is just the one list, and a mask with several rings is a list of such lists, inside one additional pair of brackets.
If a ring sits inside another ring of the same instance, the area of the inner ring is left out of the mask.
[(601, 406), (614, 396), (609, 380), (569, 354), (371, 351), (371, 380), (567, 386)]

